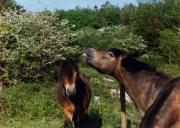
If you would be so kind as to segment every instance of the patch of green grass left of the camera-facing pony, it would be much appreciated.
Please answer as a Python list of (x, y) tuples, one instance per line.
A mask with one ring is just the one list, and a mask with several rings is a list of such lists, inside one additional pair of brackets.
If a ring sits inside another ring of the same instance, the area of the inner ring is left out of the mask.
[(41, 122), (38, 125), (42, 127), (48, 127), (50, 121), (56, 125), (63, 122), (60, 118), (63, 111), (56, 101), (55, 88), (48, 84), (12, 86), (0, 93), (0, 101), (5, 108), (0, 116), (1, 124), (25, 128), (27, 124), (34, 125), (32, 122)]

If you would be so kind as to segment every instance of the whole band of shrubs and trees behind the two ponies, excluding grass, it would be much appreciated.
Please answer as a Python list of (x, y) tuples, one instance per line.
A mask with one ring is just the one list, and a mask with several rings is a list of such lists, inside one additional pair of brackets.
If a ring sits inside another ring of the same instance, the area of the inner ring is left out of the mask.
[(54, 80), (61, 60), (77, 60), (83, 47), (116, 47), (155, 58), (152, 64), (179, 64), (179, 11), (179, 0), (140, 1), (123, 8), (107, 1), (101, 8), (39, 13), (5, 10), (0, 23), (1, 79), (5, 85)]

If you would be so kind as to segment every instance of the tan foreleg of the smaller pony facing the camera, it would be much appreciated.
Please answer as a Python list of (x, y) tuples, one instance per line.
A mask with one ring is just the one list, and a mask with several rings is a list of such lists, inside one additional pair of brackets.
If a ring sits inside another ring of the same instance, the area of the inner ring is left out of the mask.
[(65, 114), (65, 124), (64, 128), (75, 128), (73, 121), (73, 115), (75, 112), (75, 107), (72, 103), (64, 104), (64, 114)]

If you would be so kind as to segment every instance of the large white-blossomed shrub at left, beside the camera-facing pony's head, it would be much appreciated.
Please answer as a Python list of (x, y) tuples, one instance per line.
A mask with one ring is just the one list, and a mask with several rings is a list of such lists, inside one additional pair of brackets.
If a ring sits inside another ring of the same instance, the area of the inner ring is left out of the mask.
[(79, 48), (72, 41), (69, 22), (55, 23), (54, 18), (48, 11), (8, 11), (1, 15), (0, 61), (9, 77), (23, 81), (51, 79), (61, 60), (77, 58)]

